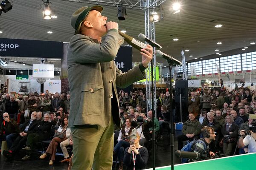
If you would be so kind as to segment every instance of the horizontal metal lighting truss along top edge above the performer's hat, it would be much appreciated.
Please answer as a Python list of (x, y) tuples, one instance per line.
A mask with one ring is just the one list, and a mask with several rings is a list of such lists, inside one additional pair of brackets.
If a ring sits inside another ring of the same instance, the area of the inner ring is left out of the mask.
[(146, 0), (62, 0), (62, 1), (70, 1), (77, 3), (89, 3), (93, 5), (102, 5), (102, 6), (118, 6), (123, 5), (127, 8), (137, 9), (137, 10), (146, 10), (147, 8), (156, 8), (160, 6), (166, 0), (150, 0), (150, 4), (148, 6), (144, 5)]

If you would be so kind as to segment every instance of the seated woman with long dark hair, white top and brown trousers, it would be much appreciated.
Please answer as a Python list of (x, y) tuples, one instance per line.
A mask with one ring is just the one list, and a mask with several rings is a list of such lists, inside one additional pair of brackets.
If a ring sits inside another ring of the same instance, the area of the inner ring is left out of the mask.
[(43, 155), (40, 156), (40, 159), (45, 159), (48, 155), (50, 156), (49, 165), (53, 164), (55, 161), (55, 153), (58, 147), (58, 144), (65, 141), (70, 136), (70, 127), (68, 126), (68, 119), (66, 116), (63, 116), (61, 119), (61, 125), (58, 130), (56, 130), (54, 138), (49, 144), (47, 150)]

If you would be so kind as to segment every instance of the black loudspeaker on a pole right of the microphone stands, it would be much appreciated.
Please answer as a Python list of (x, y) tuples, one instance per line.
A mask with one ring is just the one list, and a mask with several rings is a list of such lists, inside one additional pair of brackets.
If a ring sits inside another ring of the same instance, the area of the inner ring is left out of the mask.
[(175, 82), (175, 102), (180, 102), (180, 94), (181, 94), (181, 102), (188, 102), (189, 91), (188, 91), (188, 81), (180, 80)]

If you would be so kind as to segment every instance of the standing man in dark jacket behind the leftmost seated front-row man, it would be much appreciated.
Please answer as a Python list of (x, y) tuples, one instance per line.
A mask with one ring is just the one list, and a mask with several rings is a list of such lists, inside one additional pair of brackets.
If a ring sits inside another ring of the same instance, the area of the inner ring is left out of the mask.
[(6, 102), (6, 112), (9, 113), (10, 119), (17, 119), (19, 104), (15, 101), (14, 96), (10, 96), (10, 100)]

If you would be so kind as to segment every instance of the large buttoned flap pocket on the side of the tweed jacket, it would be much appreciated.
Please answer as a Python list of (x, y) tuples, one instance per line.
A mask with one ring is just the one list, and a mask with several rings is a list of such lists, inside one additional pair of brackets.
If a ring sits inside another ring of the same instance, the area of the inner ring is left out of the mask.
[(86, 84), (81, 88), (79, 113), (100, 115), (103, 112), (104, 89), (102, 85)]

